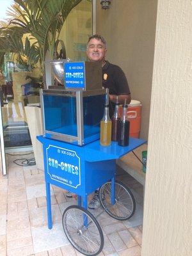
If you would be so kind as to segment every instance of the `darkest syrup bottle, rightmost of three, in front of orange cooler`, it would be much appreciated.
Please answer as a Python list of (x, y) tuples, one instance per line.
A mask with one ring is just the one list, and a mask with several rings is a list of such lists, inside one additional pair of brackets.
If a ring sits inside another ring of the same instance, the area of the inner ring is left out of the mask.
[(127, 104), (125, 104), (123, 105), (122, 117), (119, 122), (118, 145), (124, 147), (129, 145), (129, 127), (130, 122), (127, 118)]

